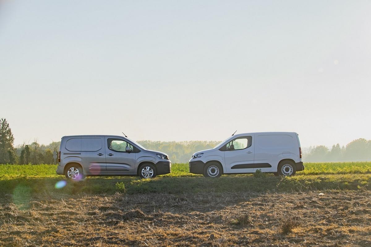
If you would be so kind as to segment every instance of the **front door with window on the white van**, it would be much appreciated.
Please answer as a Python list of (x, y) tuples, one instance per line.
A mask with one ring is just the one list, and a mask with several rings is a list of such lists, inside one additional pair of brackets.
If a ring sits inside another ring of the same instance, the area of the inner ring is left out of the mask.
[(254, 136), (237, 137), (221, 148), (227, 173), (250, 173), (254, 165)]

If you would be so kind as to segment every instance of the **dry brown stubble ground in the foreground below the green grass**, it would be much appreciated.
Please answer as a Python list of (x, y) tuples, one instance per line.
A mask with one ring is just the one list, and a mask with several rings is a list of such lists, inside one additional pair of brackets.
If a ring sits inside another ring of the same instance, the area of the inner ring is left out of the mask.
[[(202, 179), (202, 178), (200, 178)], [(0, 203), (1, 246), (371, 246), (371, 191), (45, 196)]]

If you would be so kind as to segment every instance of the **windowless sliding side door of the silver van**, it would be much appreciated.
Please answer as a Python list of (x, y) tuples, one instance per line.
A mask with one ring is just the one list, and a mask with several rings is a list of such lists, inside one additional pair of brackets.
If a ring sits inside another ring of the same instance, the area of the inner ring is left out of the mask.
[(82, 137), (81, 158), (87, 174), (104, 174), (106, 171), (106, 155), (103, 136)]

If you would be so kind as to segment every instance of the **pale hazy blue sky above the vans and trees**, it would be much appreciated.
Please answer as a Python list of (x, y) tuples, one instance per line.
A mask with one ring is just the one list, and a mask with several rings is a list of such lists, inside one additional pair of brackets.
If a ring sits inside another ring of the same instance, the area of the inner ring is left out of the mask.
[(0, 0), (14, 144), (371, 139), (371, 1)]

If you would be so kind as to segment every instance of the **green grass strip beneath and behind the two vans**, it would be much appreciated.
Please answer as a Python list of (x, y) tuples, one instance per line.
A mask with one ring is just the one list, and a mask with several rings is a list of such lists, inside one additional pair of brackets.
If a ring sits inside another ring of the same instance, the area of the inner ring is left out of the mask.
[(170, 174), (154, 179), (139, 177), (88, 177), (78, 183), (66, 181), (56, 188), (64, 176), (55, 173), (55, 165), (0, 165), (0, 193), (201, 193), (266, 191), (309, 191), (325, 189), (369, 190), (371, 162), (306, 163), (305, 170), (293, 177), (275, 177), (263, 174), (223, 175), (219, 179), (206, 179), (188, 172), (187, 164), (173, 164)]

